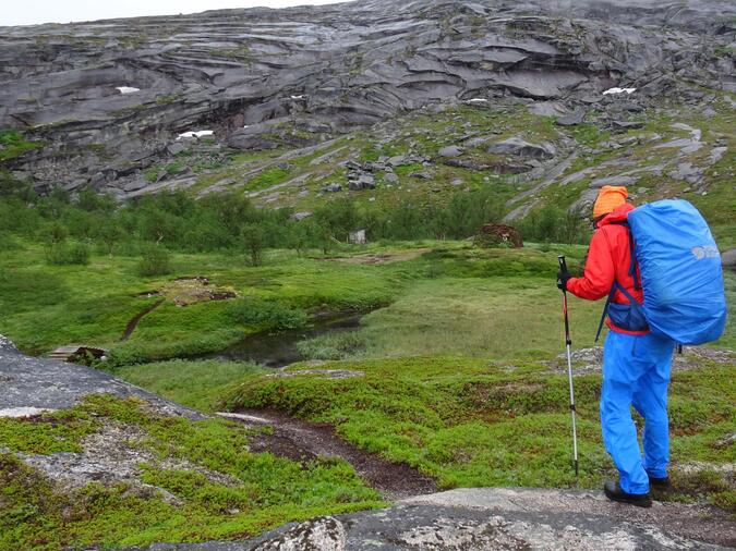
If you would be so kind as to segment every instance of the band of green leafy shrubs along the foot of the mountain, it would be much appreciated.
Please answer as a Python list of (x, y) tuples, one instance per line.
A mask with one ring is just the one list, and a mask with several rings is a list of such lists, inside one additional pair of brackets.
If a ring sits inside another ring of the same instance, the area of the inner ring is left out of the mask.
[[(46, 246), (55, 264), (81, 264), (89, 246), (99, 253), (136, 255), (141, 271), (166, 273), (165, 247), (170, 252), (230, 252), (260, 265), (267, 248), (293, 248), (324, 254), (347, 242), (351, 231), (365, 229), (371, 241), (466, 238), (484, 223), (496, 222), (503, 206), (492, 191), (458, 192), (447, 206), (407, 199), (397, 205), (359, 205), (350, 199), (326, 203), (306, 220), (291, 219), (290, 209), (255, 208), (242, 194), (213, 194), (201, 200), (168, 192), (116, 204), (110, 197), (83, 191), (76, 197), (61, 188), (39, 196), (14, 185), (0, 194), (0, 233)], [(519, 229), (529, 241), (584, 242), (584, 223), (554, 208), (533, 211)], [(8, 241), (8, 237), (5, 237)], [(155, 247), (149, 247), (152, 245)], [(86, 255), (86, 256), (85, 256)]]

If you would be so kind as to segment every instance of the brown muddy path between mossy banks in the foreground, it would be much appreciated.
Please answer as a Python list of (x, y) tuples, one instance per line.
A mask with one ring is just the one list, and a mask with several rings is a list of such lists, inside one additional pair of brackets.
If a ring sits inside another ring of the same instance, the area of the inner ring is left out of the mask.
[(434, 480), (409, 465), (390, 463), (341, 440), (329, 424), (307, 423), (274, 411), (241, 411), (218, 413), (249, 427), (273, 428), (272, 433), (249, 437), (251, 451), (269, 452), (294, 461), (311, 461), (317, 456), (341, 457), (388, 501), (437, 491)]

